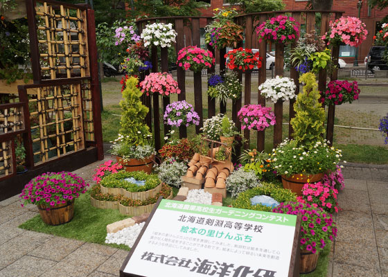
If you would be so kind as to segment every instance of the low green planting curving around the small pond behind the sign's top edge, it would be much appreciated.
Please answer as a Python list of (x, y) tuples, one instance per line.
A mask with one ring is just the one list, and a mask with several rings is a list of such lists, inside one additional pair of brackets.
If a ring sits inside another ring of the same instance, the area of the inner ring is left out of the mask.
[(267, 195), (274, 198), (277, 202), (296, 202), (297, 195), (292, 193), (291, 190), (285, 188), (279, 188), (274, 184), (262, 183), (263, 186), (258, 186), (250, 190), (246, 190), (238, 195), (237, 199), (232, 202), (233, 208), (245, 208), (247, 210), (254, 211), (272, 211), (272, 207), (263, 206), (261, 204), (252, 205), (251, 198), (256, 195)]

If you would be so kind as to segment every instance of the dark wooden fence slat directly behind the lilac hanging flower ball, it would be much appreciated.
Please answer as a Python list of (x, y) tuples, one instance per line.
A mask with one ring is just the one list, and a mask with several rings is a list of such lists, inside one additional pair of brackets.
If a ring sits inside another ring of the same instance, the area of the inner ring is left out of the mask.
[[(183, 19), (175, 19), (175, 31), (177, 32), (177, 44), (175, 46), (175, 51), (178, 52), (182, 48), (184, 48), (184, 25)], [(185, 74), (184, 70), (179, 66), (177, 67), (177, 82), (178, 87), (181, 90), (181, 93), (178, 95), (178, 100), (183, 101), (186, 100), (186, 85), (185, 85)], [(179, 139), (183, 139), (187, 137), (187, 129), (186, 126), (179, 127)]]

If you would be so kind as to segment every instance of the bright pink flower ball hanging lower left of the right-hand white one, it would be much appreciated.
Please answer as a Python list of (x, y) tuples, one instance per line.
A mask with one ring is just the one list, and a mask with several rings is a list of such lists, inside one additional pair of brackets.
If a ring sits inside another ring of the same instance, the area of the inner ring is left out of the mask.
[(261, 105), (245, 105), (238, 111), (237, 116), (241, 122), (241, 129), (263, 131), (266, 127), (276, 123), (272, 109)]

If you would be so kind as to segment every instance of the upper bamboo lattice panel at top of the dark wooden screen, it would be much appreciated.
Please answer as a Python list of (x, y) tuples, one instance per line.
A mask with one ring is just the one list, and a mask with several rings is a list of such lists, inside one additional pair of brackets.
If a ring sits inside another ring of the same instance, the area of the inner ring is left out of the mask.
[(35, 15), (41, 75), (90, 76), (86, 10), (37, 1)]

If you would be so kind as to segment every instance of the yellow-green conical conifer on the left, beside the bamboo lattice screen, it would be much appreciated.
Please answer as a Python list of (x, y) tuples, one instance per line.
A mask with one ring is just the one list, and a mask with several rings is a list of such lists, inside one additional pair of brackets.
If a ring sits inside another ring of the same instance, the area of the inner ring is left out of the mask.
[(127, 145), (148, 145), (151, 137), (150, 129), (144, 123), (144, 118), (148, 114), (148, 107), (145, 107), (140, 100), (143, 95), (140, 89), (136, 87), (139, 80), (131, 76), (128, 78), (126, 87), (123, 90), (124, 100), (120, 101), (120, 107), (123, 110), (121, 114), (120, 134), (123, 135)]

